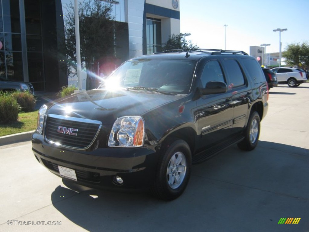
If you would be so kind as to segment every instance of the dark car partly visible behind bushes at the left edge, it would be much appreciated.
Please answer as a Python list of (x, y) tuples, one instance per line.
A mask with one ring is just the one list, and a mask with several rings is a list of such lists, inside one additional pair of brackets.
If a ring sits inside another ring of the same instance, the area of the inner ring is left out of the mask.
[(3, 92), (28, 91), (34, 95), (34, 88), (31, 83), (10, 80), (2, 76), (0, 76), (0, 92), (1, 91)]

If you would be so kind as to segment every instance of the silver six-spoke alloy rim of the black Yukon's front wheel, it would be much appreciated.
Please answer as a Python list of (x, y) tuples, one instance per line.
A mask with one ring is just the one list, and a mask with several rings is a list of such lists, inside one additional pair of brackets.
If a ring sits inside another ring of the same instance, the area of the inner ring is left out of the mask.
[(178, 188), (184, 180), (187, 171), (186, 157), (182, 152), (176, 152), (168, 162), (166, 178), (169, 187)]

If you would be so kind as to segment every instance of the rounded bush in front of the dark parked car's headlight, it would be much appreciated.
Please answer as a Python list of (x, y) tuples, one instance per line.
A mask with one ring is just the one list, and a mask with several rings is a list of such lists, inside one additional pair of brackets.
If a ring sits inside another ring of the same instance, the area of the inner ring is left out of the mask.
[(19, 104), (20, 112), (31, 112), (36, 106), (36, 98), (29, 92), (13, 92), (11, 96)]

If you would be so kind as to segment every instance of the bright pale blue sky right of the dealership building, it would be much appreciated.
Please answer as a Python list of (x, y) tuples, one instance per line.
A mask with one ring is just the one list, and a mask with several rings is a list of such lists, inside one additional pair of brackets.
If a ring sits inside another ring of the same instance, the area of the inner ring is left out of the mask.
[(178, 0), (180, 32), (200, 48), (241, 50), (271, 44), (266, 53), (282, 51), (288, 44), (309, 42), (309, 0)]

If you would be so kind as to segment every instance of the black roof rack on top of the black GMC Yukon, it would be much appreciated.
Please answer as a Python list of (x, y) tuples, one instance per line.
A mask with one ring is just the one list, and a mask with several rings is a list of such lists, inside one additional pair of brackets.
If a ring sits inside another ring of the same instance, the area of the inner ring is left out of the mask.
[(239, 55), (247, 55), (248, 53), (244, 51), (236, 51), (236, 50), (222, 50), (222, 49), (210, 49), (210, 48), (181, 48), (181, 49), (169, 49), (163, 52), (155, 52), (154, 54), (162, 54), (162, 53), (170, 53), (170, 52), (186, 52), (186, 56), (189, 56), (189, 52), (200, 52), (200, 53), (209, 53), (211, 55), (219, 55), (219, 54), (239, 54)]

